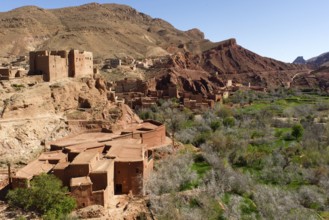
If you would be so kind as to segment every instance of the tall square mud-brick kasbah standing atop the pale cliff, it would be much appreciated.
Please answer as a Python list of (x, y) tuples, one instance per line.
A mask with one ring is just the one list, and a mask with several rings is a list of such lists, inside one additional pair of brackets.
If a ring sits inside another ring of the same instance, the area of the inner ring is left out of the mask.
[(42, 75), (50, 82), (67, 77), (91, 76), (93, 54), (87, 51), (31, 51), (30, 75)]

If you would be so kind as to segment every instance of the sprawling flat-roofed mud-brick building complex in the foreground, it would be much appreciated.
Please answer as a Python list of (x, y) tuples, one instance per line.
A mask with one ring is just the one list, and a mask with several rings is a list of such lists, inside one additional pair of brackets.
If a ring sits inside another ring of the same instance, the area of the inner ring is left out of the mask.
[(24, 183), (33, 176), (52, 173), (70, 189), (78, 207), (106, 207), (119, 194), (143, 195), (154, 149), (171, 143), (165, 134), (163, 124), (150, 120), (112, 133), (82, 133), (54, 141), (50, 152), (14, 175), (12, 186), (29, 187)]

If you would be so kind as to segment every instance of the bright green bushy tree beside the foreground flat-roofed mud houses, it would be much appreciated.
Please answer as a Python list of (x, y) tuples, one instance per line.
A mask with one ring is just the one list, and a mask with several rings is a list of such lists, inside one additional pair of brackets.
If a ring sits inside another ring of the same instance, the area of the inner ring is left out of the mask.
[(17, 188), (7, 194), (9, 205), (26, 211), (37, 211), (45, 219), (59, 219), (68, 215), (76, 206), (67, 195), (67, 188), (53, 175), (41, 174), (31, 181), (30, 188)]

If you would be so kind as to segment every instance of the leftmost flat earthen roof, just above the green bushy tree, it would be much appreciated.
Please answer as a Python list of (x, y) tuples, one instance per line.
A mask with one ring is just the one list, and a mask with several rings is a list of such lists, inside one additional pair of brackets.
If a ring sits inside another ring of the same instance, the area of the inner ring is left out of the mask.
[(14, 177), (32, 179), (33, 176), (40, 175), (41, 173), (48, 173), (53, 167), (54, 164), (49, 164), (46, 161), (34, 160), (17, 171)]

